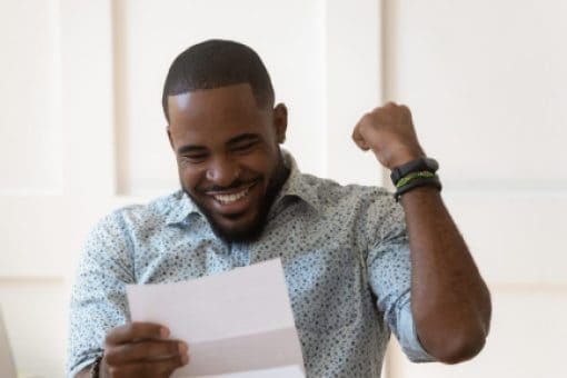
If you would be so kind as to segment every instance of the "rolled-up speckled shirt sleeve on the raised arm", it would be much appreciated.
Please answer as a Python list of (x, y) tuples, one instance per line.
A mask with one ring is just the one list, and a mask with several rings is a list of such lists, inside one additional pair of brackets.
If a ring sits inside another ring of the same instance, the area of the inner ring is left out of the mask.
[(384, 202), (375, 209), (380, 216), (374, 228), (375, 241), (369, 246), (368, 281), (384, 321), (406, 356), (414, 362), (434, 361), (419, 341), (411, 315), (411, 260), (404, 212), (392, 200), (385, 202), (389, 205), (387, 210)]

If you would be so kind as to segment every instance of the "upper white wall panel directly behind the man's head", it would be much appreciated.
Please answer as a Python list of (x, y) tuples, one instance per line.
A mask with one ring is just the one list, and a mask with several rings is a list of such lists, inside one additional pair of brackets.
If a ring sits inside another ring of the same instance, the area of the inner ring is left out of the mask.
[[(222, 11), (220, 11), (222, 10)], [(324, 50), (320, 1), (125, 1), (116, 9), (125, 73), (119, 152), (123, 193), (178, 187), (161, 110), (169, 64), (187, 47), (211, 38), (250, 44), (271, 73), (277, 101), (289, 108), (286, 147), (305, 171), (320, 173), (324, 133)], [(243, 21), (246, 20), (246, 21)]]

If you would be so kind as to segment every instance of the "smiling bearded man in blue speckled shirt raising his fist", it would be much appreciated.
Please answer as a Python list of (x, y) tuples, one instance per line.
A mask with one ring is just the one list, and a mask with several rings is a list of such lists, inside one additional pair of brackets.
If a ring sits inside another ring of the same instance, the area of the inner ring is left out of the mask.
[(415, 361), (455, 364), (479, 352), (489, 292), (408, 108), (377, 108), (352, 133), (394, 170), (397, 203), (379, 188), (299, 172), (279, 148), (287, 109), (275, 105), (266, 68), (243, 44), (211, 40), (183, 51), (162, 106), (182, 190), (118, 210), (91, 232), (72, 294), (70, 376), (169, 377), (191, 364), (190, 346), (169, 338), (167, 325), (129, 322), (127, 284), (276, 257), (308, 377), (379, 377), (390, 330)]

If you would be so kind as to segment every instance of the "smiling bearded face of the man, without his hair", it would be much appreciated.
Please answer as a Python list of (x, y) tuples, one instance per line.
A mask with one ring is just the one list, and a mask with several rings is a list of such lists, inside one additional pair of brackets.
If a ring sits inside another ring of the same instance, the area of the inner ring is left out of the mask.
[(286, 178), (285, 106), (259, 109), (245, 83), (171, 96), (168, 110), (183, 190), (225, 240), (257, 238)]

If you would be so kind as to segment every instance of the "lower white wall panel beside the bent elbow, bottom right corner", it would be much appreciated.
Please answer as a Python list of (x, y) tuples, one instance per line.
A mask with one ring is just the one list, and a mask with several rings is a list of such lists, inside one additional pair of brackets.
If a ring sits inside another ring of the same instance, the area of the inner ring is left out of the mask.
[(563, 377), (565, 287), (557, 289), (493, 287), (490, 336), (477, 358), (456, 366), (410, 364), (394, 345), (397, 378)]

